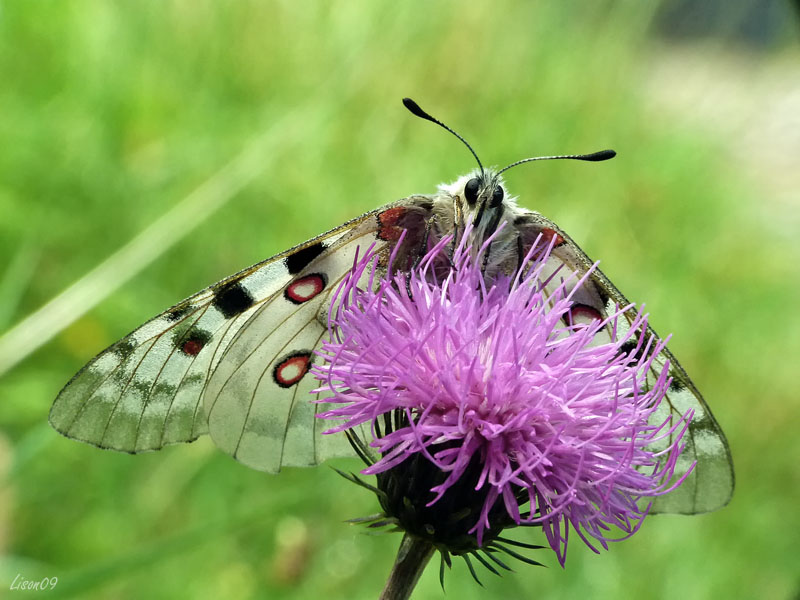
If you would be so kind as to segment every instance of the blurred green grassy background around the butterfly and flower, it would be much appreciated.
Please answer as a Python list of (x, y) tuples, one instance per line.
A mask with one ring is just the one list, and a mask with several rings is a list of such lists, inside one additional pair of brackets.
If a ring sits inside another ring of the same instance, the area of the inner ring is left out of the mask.
[[(737, 471), (724, 510), (653, 517), (600, 555), (575, 538), (565, 570), (540, 552), (549, 568), (483, 589), (459, 563), (446, 597), (796, 598), (797, 13), (691, 4), (0, 1), (0, 332), (178, 211), (37, 329), (0, 335), (19, 360), (0, 379), (0, 596), (17, 574), (59, 578), (37, 597), (378, 596), (400, 537), (343, 523), (377, 504), (331, 469), (266, 476), (207, 439), (103, 452), (47, 412), (177, 300), (472, 169), (411, 96), (488, 164), (619, 152), (508, 185), (674, 333)], [(445, 597), (437, 566), (415, 598)]]

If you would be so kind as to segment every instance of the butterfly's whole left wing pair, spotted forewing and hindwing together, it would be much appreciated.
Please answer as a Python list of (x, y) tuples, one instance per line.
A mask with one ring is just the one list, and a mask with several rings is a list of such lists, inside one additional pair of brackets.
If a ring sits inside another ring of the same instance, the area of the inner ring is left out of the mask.
[(67, 437), (137, 453), (207, 433), (213, 409), (214, 441), (255, 468), (351, 454), (344, 436), (319, 435), (330, 425), (314, 418), (315, 384), (300, 357), (318, 346), (317, 317), (356, 249), (393, 246), (403, 226), (424, 223), (417, 205), (427, 204), (413, 197), (366, 213), (170, 308), (81, 369), (50, 423)]

